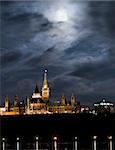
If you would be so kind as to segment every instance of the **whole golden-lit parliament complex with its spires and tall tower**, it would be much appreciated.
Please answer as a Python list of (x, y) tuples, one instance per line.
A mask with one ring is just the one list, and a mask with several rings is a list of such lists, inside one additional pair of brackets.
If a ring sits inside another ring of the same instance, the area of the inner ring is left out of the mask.
[(30, 97), (27, 97), (26, 103), (19, 101), (18, 96), (14, 96), (13, 104), (10, 104), (8, 96), (5, 98), (5, 107), (1, 108), (1, 115), (19, 115), (19, 114), (53, 114), (53, 113), (80, 113), (89, 111), (89, 107), (81, 107), (76, 102), (74, 94), (70, 96), (69, 101), (62, 94), (59, 101), (50, 100), (50, 89), (48, 84), (47, 70), (44, 71), (43, 84), (41, 92), (36, 83), (35, 90)]

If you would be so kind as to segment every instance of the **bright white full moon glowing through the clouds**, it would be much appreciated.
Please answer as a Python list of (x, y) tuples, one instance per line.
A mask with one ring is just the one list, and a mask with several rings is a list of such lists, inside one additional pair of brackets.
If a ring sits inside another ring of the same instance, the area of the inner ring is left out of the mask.
[(68, 21), (68, 16), (67, 16), (67, 12), (64, 9), (59, 9), (56, 12), (56, 21), (59, 22), (66, 22)]

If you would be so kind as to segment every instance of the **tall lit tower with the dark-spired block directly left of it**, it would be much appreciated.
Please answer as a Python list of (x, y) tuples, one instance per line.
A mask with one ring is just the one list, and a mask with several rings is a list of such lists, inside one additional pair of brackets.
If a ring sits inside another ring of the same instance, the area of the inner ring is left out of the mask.
[(48, 87), (48, 79), (47, 79), (47, 70), (44, 72), (43, 78), (43, 86), (42, 86), (42, 94), (38, 88), (38, 84), (36, 83), (36, 87), (31, 97), (27, 98), (27, 106), (26, 113), (27, 114), (40, 114), (47, 112), (46, 103), (49, 100), (49, 87)]

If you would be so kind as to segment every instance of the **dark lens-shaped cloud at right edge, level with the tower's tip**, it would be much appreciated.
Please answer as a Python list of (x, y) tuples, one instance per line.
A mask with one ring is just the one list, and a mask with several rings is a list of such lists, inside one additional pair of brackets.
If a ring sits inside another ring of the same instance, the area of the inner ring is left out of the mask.
[(89, 80), (107, 80), (115, 77), (115, 65), (111, 63), (91, 64), (87, 63), (71, 73), (73, 76), (83, 77)]

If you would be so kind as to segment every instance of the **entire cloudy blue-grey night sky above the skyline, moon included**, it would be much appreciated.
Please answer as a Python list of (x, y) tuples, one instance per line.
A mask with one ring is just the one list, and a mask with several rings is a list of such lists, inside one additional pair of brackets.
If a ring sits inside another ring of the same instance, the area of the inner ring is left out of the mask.
[(44, 69), (51, 100), (115, 102), (115, 2), (1, 2), (0, 22), (2, 103), (41, 89)]

